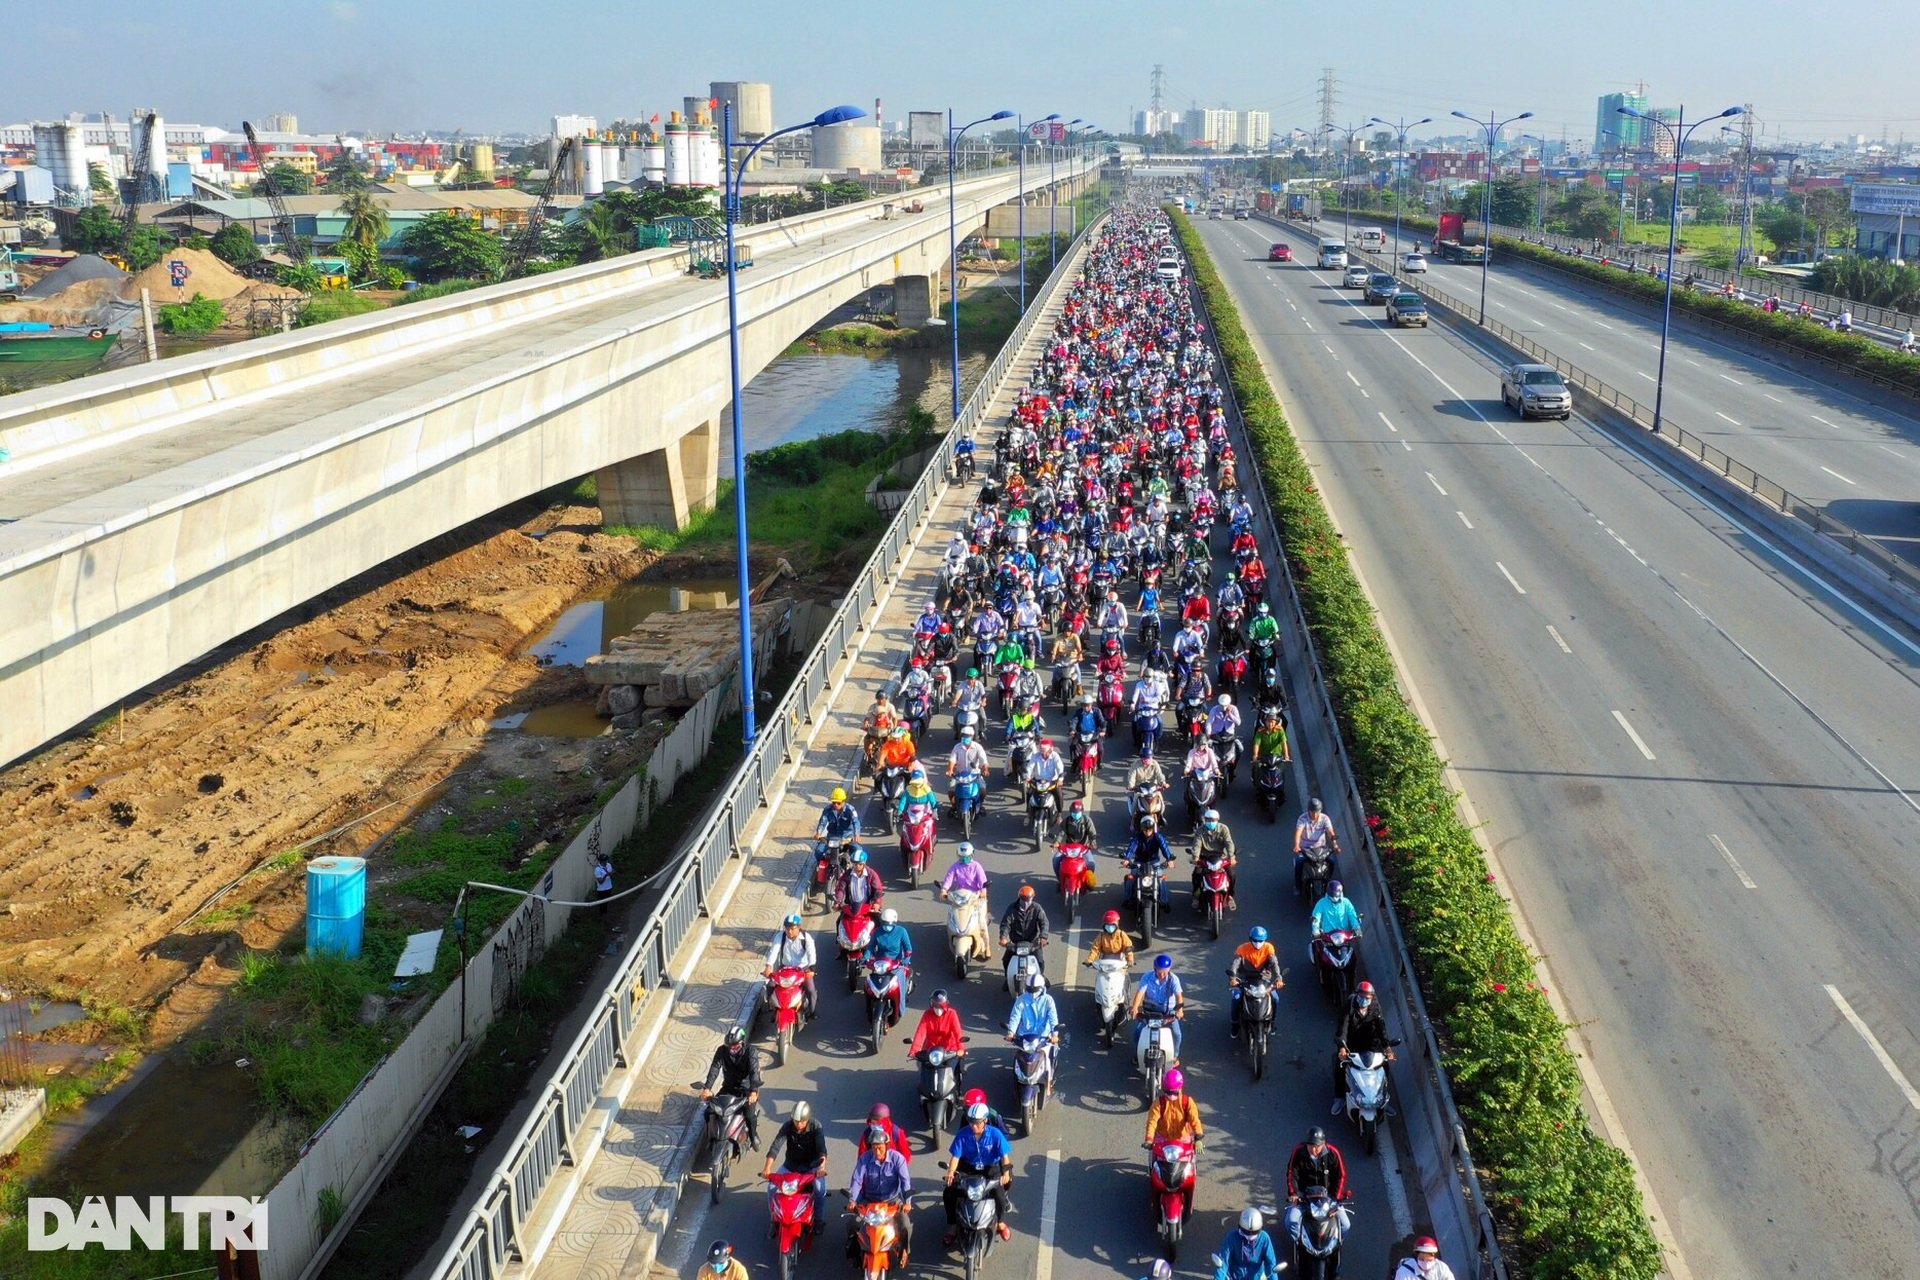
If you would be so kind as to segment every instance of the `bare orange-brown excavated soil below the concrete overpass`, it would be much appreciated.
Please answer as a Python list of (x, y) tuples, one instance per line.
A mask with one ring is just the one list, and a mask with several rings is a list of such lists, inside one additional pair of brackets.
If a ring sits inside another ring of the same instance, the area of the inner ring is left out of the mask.
[(657, 558), (601, 533), (595, 509), (515, 518), (526, 509), (382, 566), (0, 773), (0, 983), (157, 1006), (165, 1042), (219, 1000), (236, 948), (301, 929), (303, 858), (365, 852), (495, 775), (628, 764), (637, 743), (614, 735), (488, 733), (503, 710), (582, 697), (578, 670), (520, 649)]

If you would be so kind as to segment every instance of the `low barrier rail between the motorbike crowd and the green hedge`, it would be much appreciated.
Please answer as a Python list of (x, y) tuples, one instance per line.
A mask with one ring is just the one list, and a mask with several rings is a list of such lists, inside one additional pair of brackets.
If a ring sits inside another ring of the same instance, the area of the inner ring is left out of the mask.
[[(1194, 290), (1194, 305), (1206, 315), (1206, 299)], [(1208, 342), (1213, 347), (1213, 359), (1219, 361), (1221, 386), (1227, 391), (1227, 403), (1231, 405), (1233, 422), (1240, 430), (1240, 443), (1246, 447), (1246, 457), (1252, 459), (1254, 453), (1248, 447), (1246, 426), (1240, 418), (1240, 397), (1233, 390), (1233, 378), (1225, 376), (1227, 359), (1219, 349), (1219, 330), (1213, 326), (1212, 317), (1208, 317)], [(1250, 478), (1250, 484), (1248, 484)], [(1267, 480), (1260, 474), (1260, 466), (1248, 466), (1242, 476), (1242, 486), (1254, 491), (1254, 507), (1258, 520), (1265, 526), (1269, 545), (1283, 549), (1286, 539), (1281, 535), (1279, 524), (1273, 520), (1273, 503), (1267, 495)], [(1402, 1082), (1409, 1077), (1417, 1079), (1425, 1088), (1402, 1090), (1402, 1096), (1415, 1094), (1421, 1103), (1430, 1111), (1428, 1126), (1444, 1142), (1444, 1155), (1453, 1161), (1457, 1171), (1457, 1180), (1452, 1184), (1457, 1196), (1457, 1215), (1459, 1215), (1459, 1236), (1461, 1244), (1475, 1251), (1473, 1267), (1455, 1265), (1455, 1274), (1463, 1280), (1507, 1280), (1507, 1263), (1500, 1251), (1500, 1238), (1494, 1230), (1494, 1215), (1486, 1205), (1486, 1192), (1480, 1186), (1480, 1173), (1473, 1163), (1473, 1151), (1467, 1146), (1467, 1130), (1459, 1119), (1459, 1107), (1453, 1103), (1453, 1088), (1446, 1079), (1446, 1065), (1440, 1057), (1440, 1040), (1434, 1036), (1432, 1019), (1427, 1013), (1427, 1000), (1421, 996), (1419, 977), (1413, 973), (1413, 965), (1407, 952), (1405, 935), (1400, 931), (1400, 912), (1394, 906), (1394, 892), (1380, 873), (1380, 848), (1373, 839), (1373, 829), (1363, 821), (1367, 810), (1367, 800), (1359, 793), (1359, 779), (1354, 773), (1354, 762), (1346, 748), (1346, 737), (1340, 729), (1340, 722), (1332, 710), (1332, 691), (1327, 687), (1325, 676), (1321, 674), (1319, 647), (1313, 643), (1313, 629), (1308, 626), (1306, 612), (1300, 606), (1300, 591), (1294, 581), (1294, 570), (1286, 555), (1275, 557), (1277, 576), (1286, 583), (1286, 608), (1290, 633), (1298, 637), (1298, 647), (1288, 643), (1288, 677), (1294, 685), (1296, 699), (1294, 704), (1294, 727), (1300, 725), (1300, 714), (1306, 708), (1313, 708), (1319, 718), (1321, 729), (1332, 747), (1334, 768), (1331, 770), (1332, 781), (1340, 787), (1340, 798), (1344, 808), (1356, 821), (1348, 823), (1348, 831), (1354, 833), (1359, 848), (1365, 850), (1361, 862), (1367, 867), (1367, 879), (1373, 885), (1375, 896), (1379, 898), (1382, 910), (1377, 913), (1388, 936), (1392, 938), (1392, 958), (1394, 975), (1400, 984), (1400, 996), (1404, 1006), (1404, 1017), (1413, 1029), (1413, 1038), (1409, 1050), (1419, 1055), (1419, 1073), (1402, 1075)], [(1298, 733), (1294, 735), (1298, 741)], [(1325, 781), (1325, 779), (1323, 779)], [(1352, 850), (1359, 852), (1359, 850)], [(1348, 864), (1352, 865), (1352, 862)], [(1352, 871), (1348, 871), (1352, 875)], [(1375, 965), (1380, 948), (1369, 952), (1373, 960), (1367, 961), (1369, 977), (1375, 975)], [(1409, 1054), (1411, 1057), (1411, 1054)], [(1457, 1255), (1455, 1255), (1457, 1257)]]

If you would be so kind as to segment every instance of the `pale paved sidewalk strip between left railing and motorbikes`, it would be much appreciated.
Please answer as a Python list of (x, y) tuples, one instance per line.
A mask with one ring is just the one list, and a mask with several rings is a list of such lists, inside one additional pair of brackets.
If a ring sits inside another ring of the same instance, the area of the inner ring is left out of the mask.
[[(1071, 273), (1079, 263), (1064, 263)], [(1069, 280), (1071, 276), (1068, 276)], [(985, 447), (1006, 420), (1014, 397), (1039, 363), (1046, 336), (1064, 311), (1066, 286), (1044, 305), (1025, 347), (981, 418)], [(858, 770), (860, 722), (874, 693), (897, 677), (906, 654), (912, 618), (933, 597), (945, 537), (972, 505), (972, 486), (952, 486), (914, 532), (912, 551), (866, 618), (862, 641), (831, 697), (810, 752), (787, 783), (772, 819), (737, 885), (712, 906), (712, 936), (684, 984), (664, 1031), (620, 1100), (605, 1140), (553, 1230), (538, 1268), (540, 1280), (624, 1280), (655, 1267), (672, 1224), (680, 1188), (689, 1173), (697, 1132), (699, 1090), (714, 1046), (735, 1021), (745, 1021), (760, 992), (760, 958), (776, 921), (793, 910), (812, 864), (812, 831), (833, 787)], [(929, 537), (931, 530), (931, 537)], [(862, 796), (864, 798), (864, 796)], [(762, 1117), (762, 1138), (772, 1126)]]

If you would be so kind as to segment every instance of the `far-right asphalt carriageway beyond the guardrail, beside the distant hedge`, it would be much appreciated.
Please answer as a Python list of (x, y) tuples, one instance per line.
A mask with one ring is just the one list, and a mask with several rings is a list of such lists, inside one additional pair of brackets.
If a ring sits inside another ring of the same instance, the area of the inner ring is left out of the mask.
[[(1392, 219), (1382, 225), (1392, 244)], [(1271, 223), (1240, 223), (1288, 240)], [(1338, 219), (1321, 230), (1340, 230)], [(1402, 244), (1430, 244), (1405, 232)], [(1304, 246), (1294, 244), (1296, 251)], [(1311, 246), (1306, 246), (1308, 249)], [(1311, 261), (1311, 251), (1306, 253)], [(1365, 259), (1361, 259), (1365, 261)], [(1480, 269), (1432, 259), (1427, 282), (1478, 305)], [(1488, 271), (1488, 317), (1653, 405), (1659, 313), (1542, 267), (1500, 259)], [(1799, 497), (1832, 507), (1862, 530), (1920, 535), (1920, 415), (1893, 411), (1772, 363), (1764, 351), (1686, 332), (1667, 345), (1663, 411), (1678, 426), (1753, 466)]]

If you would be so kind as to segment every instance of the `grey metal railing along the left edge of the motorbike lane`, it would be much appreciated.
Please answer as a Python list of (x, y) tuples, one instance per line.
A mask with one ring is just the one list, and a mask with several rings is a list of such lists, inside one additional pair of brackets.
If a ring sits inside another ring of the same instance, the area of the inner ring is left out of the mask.
[[(973, 386), (954, 432), (972, 432), (979, 426), (1006, 378), (1008, 365), (1025, 345), (1046, 301), (1073, 280), (1079, 255), (1104, 221), (1102, 217), (1089, 223), (1068, 248), (1062, 271), (1033, 299), (1027, 315)], [(597, 996), (595, 1013), (574, 1036), (561, 1067), (543, 1086), (540, 1103), (492, 1174), (480, 1203), (468, 1209), (459, 1236), (434, 1265), (430, 1272), (434, 1280), (499, 1280), (509, 1265), (532, 1259), (526, 1228), (541, 1194), (555, 1173), (582, 1163), (578, 1157), (584, 1140), (591, 1136), (588, 1130), (595, 1123), (595, 1103), (609, 1077), (620, 1067), (636, 1065), (651, 1052), (651, 1042), (636, 1052), (636, 1032), (672, 1007), (678, 983), (699, 960), (705, 940), (684, 958), (676, 977), (674, 961), (682, 942), (699, 935), (703, 915), (712, 915), (710, 900), (726, 865), (751, 856), (751, 846), (743, 839), (747, 825), (758, 810), (772, 810), (785, 793), (783, 775), (797, 766), (799, 754), (818, 731), (837, 683), (835, 670), (849, 660), (856, 637), (870, 626), (866, 614), (879, 601), (883, 583), (912, 549), (918, 526), (933, 503), (947, 491), (947, 457), (941, 449), (927, 462), (899, 514), (881, 533), (874, 555), (854, 578), (847, 599), (828, 620), (820, 643), (814, 645), (793, 685), (760, 720), (753, 748), (720, 793), (707, 821), (687, 839), (682, 862), (666, 881), (659, 904), (639, 927), (612, 981)], [(657, 1006), (659, 1000), (666, 1004)], [(611, 1113), (599, 1119), (607, 1121)]]

